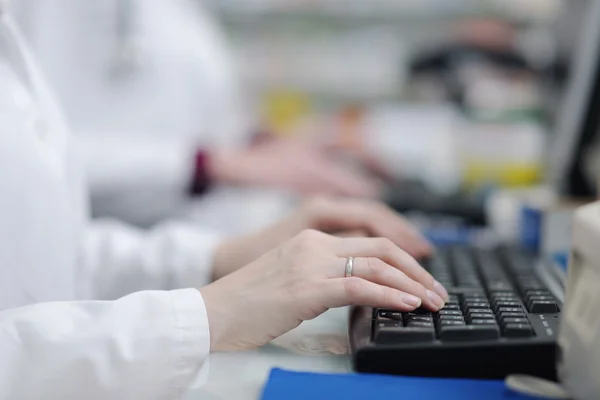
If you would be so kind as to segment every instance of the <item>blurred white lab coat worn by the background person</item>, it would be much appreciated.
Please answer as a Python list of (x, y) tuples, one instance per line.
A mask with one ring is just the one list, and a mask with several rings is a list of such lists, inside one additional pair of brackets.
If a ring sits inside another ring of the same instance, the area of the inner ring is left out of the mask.
[[(119, 6), (131, 9), (125, 28)], [(95, 213), (138, 225), (176, 215), (189, 201), (195, 151), (250, 139), (225, 38), (193, 0), (11, 7), (81, 146)]]

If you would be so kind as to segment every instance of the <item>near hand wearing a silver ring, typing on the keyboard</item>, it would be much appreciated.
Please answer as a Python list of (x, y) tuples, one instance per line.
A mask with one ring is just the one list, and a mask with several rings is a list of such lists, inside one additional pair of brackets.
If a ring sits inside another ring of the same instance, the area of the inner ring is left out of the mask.
[[(355, 257), (351, 277), (344, 277), (347, 257)], [(423, 305), (437, 311), (448, 297), (388, 239), (344, 239), (311, 230), (200, 292), (212, 351), (262, 346), (329, 308), (411, 311)]]

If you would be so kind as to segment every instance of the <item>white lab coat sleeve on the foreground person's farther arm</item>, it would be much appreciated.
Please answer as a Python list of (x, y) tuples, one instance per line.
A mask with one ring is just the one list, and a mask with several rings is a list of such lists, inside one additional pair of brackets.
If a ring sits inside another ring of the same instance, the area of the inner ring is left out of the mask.
[(95, 220), (83, 238), (80, 298), (114, 300), (139, 290), (202, 287), (211, 281), (219, 242), (217, 235), (179, 222), (141, 230)]

